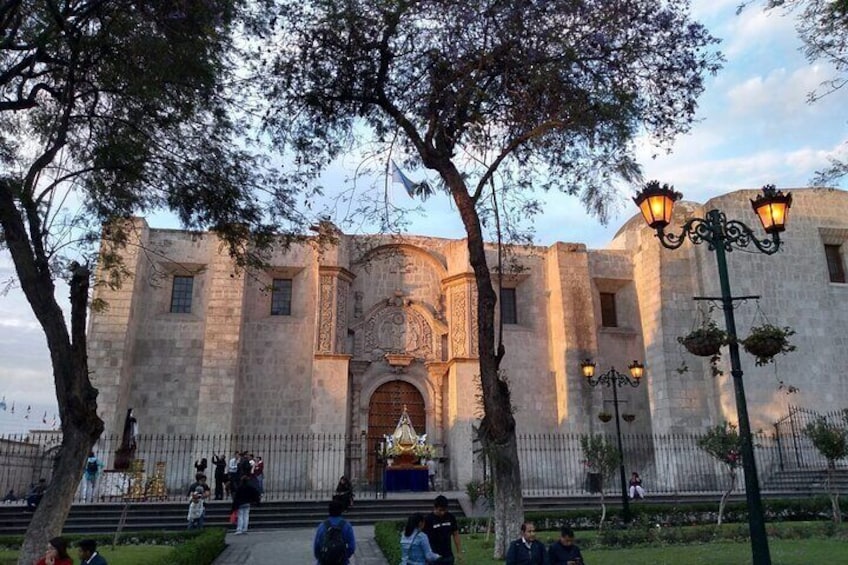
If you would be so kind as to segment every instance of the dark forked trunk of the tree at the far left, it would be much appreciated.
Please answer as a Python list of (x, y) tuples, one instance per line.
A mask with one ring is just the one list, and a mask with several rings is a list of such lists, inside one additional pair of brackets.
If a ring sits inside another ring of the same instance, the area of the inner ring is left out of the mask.
[[(97, 416), (97, 389), (91, 386), (88, 378), (85, 326), (90, 271), (79, 265), (72, 267), (69, 333), (56, 301), (42, 233), (33, 223), (37, 219), (35, 206), (20, 204), (19, 207), (18, 195), (12, 183), (0, 183), (0, 226), (21, 289), (47, 338), (62, 420), (62, 445), (53, 477), (33, 514), (18, 556), (19, 565), (30, 565), (44, 554), (47, 541), (62, 532), (85, 459), (103, 432), (103, 422)], [(23, 219), (24, 211), (29, 212), (29, 232)]]

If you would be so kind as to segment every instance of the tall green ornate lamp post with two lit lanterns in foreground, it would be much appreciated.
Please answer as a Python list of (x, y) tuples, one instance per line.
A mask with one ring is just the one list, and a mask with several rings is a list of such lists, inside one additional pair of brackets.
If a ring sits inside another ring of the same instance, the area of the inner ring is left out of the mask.
[[(739, 418), (739, 436), (742, 440), (742, 468), (745, 472), (745, 496), (748, 502), (748, 526), (751, 534), (751, 552), (754, 565), (770, 565), (768, 538), (766, 537), (760, 485), (754, 461), (754, 446), (751, 440), (751, 425), (748, 421), (748, 405), (742, 383), (742, 368), (739, 363), (739, 345), (736, 343), (736, 319), (733, 315), (733, 296), (727, 275), (727, 253), (734, 248), (742, 249), (753, 245), (762, 253), (771, 255), (780, 248), (780, 232), (786, 229), (786, 215), (792, 205), (792, 195), (783, 194), (774, 185), (763, 187), (763, 193), (751, 201), (751, 206), (760, 218), (763, 229), (771, 239), (760, 240), (742, 222), (728, 220), (719, 210), (710, 210), (705, 219), (692, 218), (683, 224), (679, 235), (665, 233), (671, 222), (674, 202), (681, 194), (667, 184), (649, 182), (633, 201), (642, 211), (648, 225), (656, 230), (660, 243), (668, 249), (677, 249), (688, 238), (694, 244), (706, 243), (716, 252), (718, 278), (721, 285), (721, 304), (724, 310), (726, 330), (730, 336), (730, 374), (736, 396), (736, 413)], [(746, 297), (749, 298), (749, 297)]]

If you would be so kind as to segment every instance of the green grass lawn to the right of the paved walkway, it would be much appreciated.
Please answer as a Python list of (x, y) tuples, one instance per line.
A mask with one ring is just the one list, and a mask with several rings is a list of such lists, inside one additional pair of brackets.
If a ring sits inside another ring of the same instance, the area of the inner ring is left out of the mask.
[[(543, 537), (542, 541), (547, 543), (549, 539)], [(492, 559), (493, 538), (487, 542), (484, 536), (479, 534), (464, 535), (462, 544), (467, 551), (466, 564), (503, 563)], [(771, 539), (769, 549), (774, 565), (844, 563), (848, 551), (845, 541), (839, 539)], [(583, 551), (583, 557), (589, 565), (747, 565), (751, 563), (751, 545), (748, 542), (712, 542), (664, 547), (589, 549)]]

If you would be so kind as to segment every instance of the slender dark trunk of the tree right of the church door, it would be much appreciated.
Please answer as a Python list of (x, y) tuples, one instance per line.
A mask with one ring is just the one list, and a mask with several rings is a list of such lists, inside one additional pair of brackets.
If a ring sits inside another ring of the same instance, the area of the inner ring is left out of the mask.
[(483, 391), (483, 420), (480, 442), (492, 462), (495, 497), (495, 559), (506, 555), (509, 540), (519, 535), (524, 521), (521, 495), (521, 469), (515, 435), (508, 383), (499, 368), (503, 347), (495, 351), (495, 306), (497, 297), (492, 287), (486, 261), (480, 217), (468, 194), (462, 177), (452, 165), (440, 168), (450, 187), (468, 238), (468, 255), (477, 285), (477, 342), (480, 355), (480, 383)]

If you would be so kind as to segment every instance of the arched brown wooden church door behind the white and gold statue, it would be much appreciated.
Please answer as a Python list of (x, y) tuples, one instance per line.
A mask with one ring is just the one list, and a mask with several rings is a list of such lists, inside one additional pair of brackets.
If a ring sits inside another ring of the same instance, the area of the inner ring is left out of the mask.
[(377, 447), (383, 436), (395, 431), (403, 407), (415, 432), (423, 434), (427, 427), (424, 397), (406, 381), (389, 381), (380, 385), (368, 403), (368, 480), (377, 479)]

